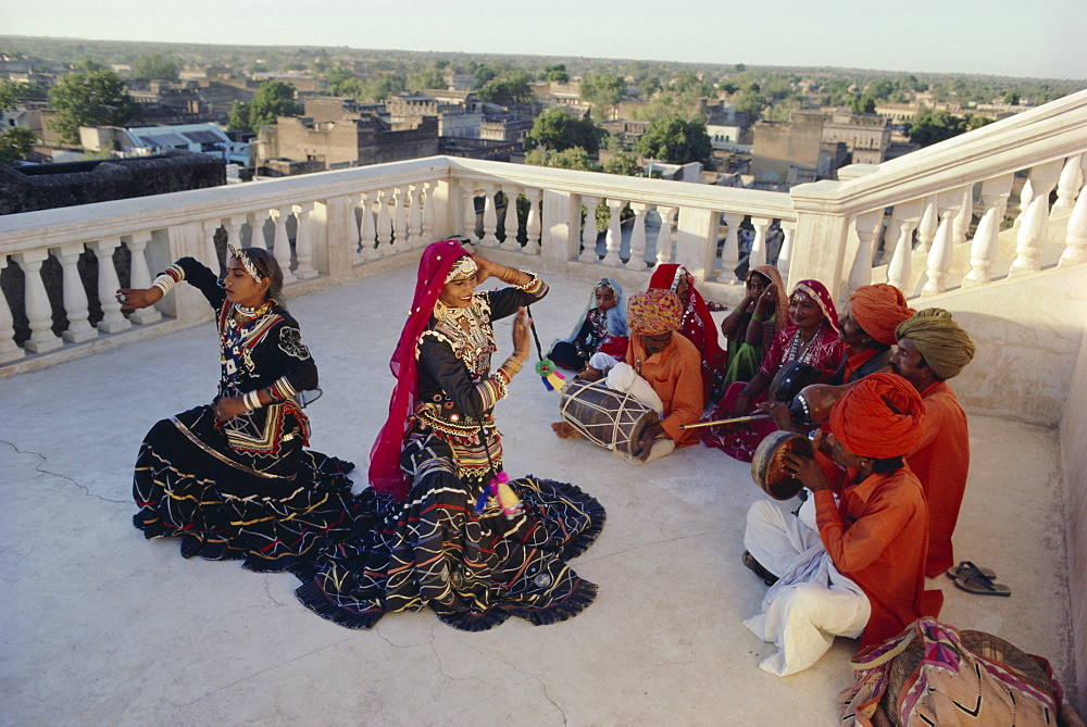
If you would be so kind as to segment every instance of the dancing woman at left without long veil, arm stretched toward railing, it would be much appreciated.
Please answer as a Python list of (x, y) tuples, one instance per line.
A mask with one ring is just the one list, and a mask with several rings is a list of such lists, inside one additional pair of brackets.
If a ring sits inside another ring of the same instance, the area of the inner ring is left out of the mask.
[(266, 250), (230, 247), (226, 278), (191, 258), (150, 288), (121, 289), (125, 311), (153, 305), (180, 280), (216, 312), (222, 373), (211, 404), (162, 419), (140, 446), (135, 526), (179, 537), (182, 554), (292, 569), (351, 531), (353, 465), (304, 449), (299, 404), (317, 367), (298, 323), (279, 304), (283, 273)]

